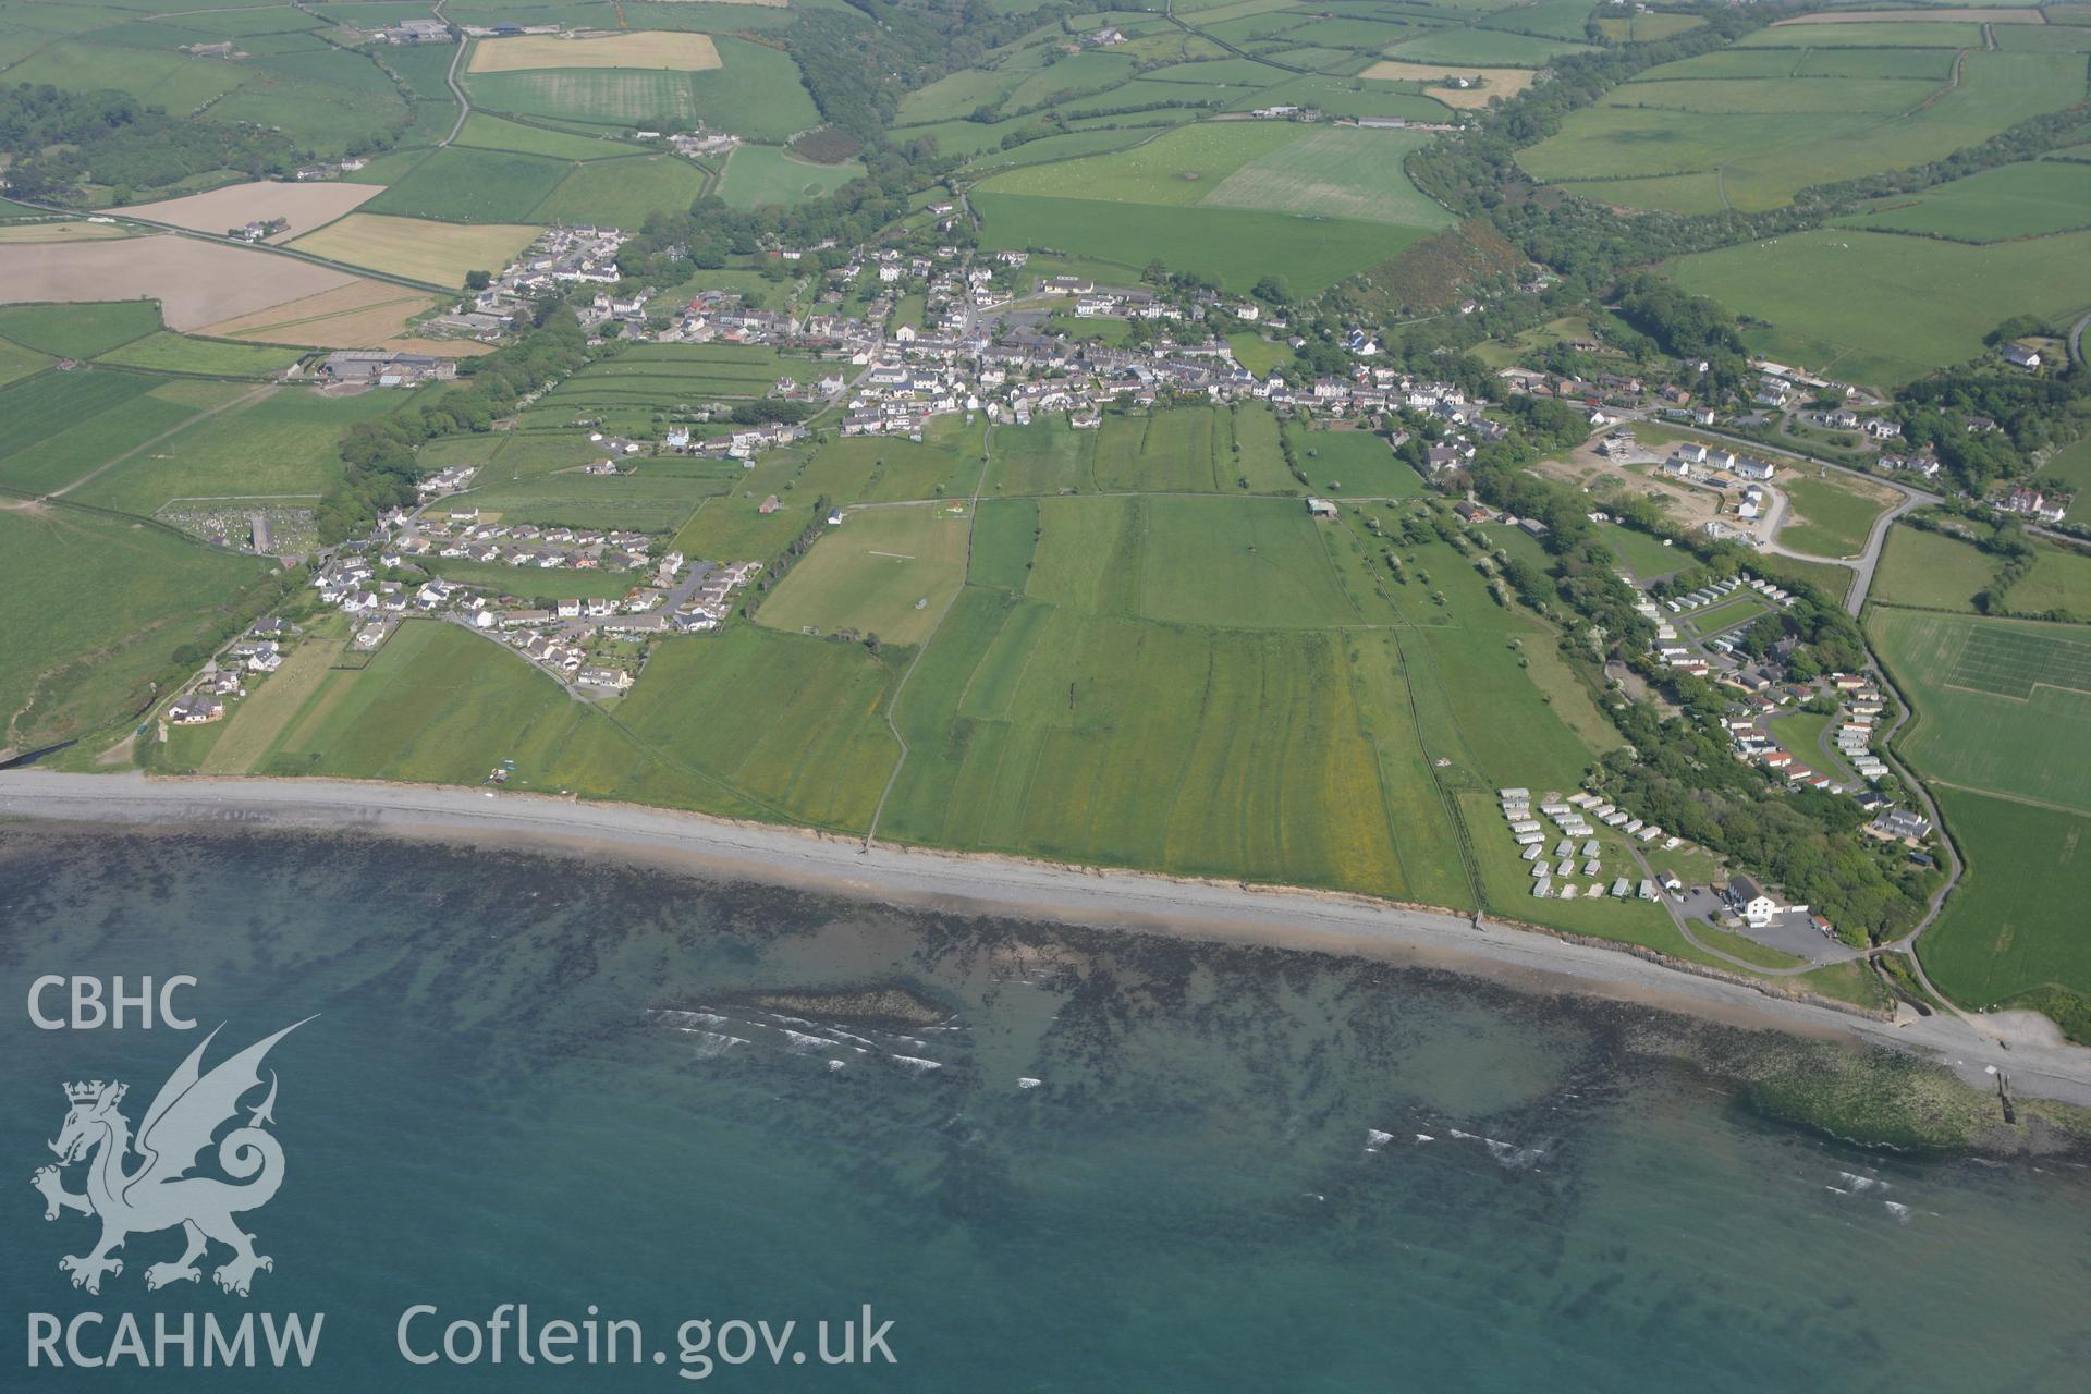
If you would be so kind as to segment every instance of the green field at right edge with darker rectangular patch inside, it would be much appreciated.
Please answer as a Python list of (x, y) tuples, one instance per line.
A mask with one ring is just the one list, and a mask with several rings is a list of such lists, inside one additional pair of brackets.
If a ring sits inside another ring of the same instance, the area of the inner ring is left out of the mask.
[(1874, 610), (1917, 721), (1897, 748), (1947, 784), (2091, 815), (2091, 629)]

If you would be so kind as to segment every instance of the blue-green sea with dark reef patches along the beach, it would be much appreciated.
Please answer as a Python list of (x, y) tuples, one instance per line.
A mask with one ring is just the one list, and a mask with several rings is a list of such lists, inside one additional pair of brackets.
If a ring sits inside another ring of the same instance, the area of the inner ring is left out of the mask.
[[(1662, 1045), (1750, 1039), (1646, 1009), (251, 832), (0, 832), (0, 963), (4, 1390), (1966, 1394), (2091, 1369), (2081, 1158), (1771, 1122)], [(134, 1235), (98, 1296), (59, 1271), (92, 1237), (29, 1187), (61, 1085), (121, 1078), (138, 1122), (203, 1030), (40, 1030), (40, 974), (192, 974), (211, 1062), (318, 1014), (268, 1058), (286, 1164), (243, 1216), (274, 1258), (253, 1296), (146, 1292), (176, 1231)], [(644, 1358), (399, 1352), (414, 1306), (427, 1352), (504, 1302), (636, 1321)], [(792, 1363), (866, 1304), (895, 1363)], [(82, 1371), (29, 1367), (38, 1312), (102, 1312), (105, 1350), (121, 1312), (324, 1323), (289, 1375)], [(690, 1319), (799, 1325), (776, 1363), (707, 1367)]]

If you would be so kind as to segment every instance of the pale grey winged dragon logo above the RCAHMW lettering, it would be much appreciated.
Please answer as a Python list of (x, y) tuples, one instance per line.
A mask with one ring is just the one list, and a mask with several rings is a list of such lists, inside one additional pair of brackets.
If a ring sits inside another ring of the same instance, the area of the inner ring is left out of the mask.
[[(59, 1260), (59, 1269), (73, 1275), (73, 1287), (98, 1294), (105, 1273), (123, 1273), (123, 1260), (111, 1258), (115, 1250), (123, 1248), (123, 1239), (176, 1225), (188, 1237), (188, 1250), (174, 1262), (148, 1267), (144, 1271), (146, 1287), (199, 1281), (203, 1271), (197, 1269), (197, 1260), (203, 1258), (211, 1239), (232, 1250), (232, 1260), (213, 1275), (226, 1292), (245, 1298), (257, 1269), (274, 1271), (276, 1262), (266, 1254), (255, 1254), (253, 1235), (232, 1221), (243, 1210), (266, 1206), (276, 1195), (276, 1187), (282, 1185), (282, 1145), (263, 1131), (263, 1124), (276, 1122), (274, 1070), (270, 1070), (268, 1097), (261, 1099), (259, 1108), (249, 1110), (249, 1122), (232, 1129), (217, 1143), (217, 1166), (245, 1185), (215, 1177), (190, 1177), (188, 1172), (211, 1145), (217, 1129), (240, 1112), (240, 1097), (261, 1085), (261, 1058), (303, 1024), (284, 1026), (203, 1074), (203, 1051), (217, 1039), (217, 1030), (213, 1030), (161, 1085), (153, 1106), (144, 1110), (136, 1143), (130, 1120), (117, 1112), (128, 1085), (92, 1081), (65, 1087), (65, 1101), (71, 1110), (65, 1114), (65, 1126), (59, 1129), (59, 1141), (50, 1143), (50, 1149), (59, 1154), (59, 1166), (38, 1168), (29, 1183), (44, 1193), (46, 1221), (59, 1218), (61, 1210), (77, 1210), (102, 1221), (102, 1237), (92, 1252)], [(132, 1149), (144, 1160), (138, 1168), (123, 1170)], [(88, 1189), (75, 1195), (65, 1189), (61, 1168), (90, 1156)]]

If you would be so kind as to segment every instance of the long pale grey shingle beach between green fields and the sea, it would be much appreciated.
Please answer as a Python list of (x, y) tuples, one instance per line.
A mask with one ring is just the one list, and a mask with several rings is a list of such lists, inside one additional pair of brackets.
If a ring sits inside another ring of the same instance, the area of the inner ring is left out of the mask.
[[(1365, 897), (1085, 869), (1018, 857), (872, 846), (813, 830), (738, 823), (644, 805), (347, 780), (0, 773), (0, 819), (144, 828), (351, 832), (481, 842), (661, 865), (907, 909), (981, 913), (1368, 957), (1478, 976), (1529, 993), (1570, 993), (1727, 1026), (1865, 1041), (1936, 1060), (1978, 1089), (1991, 1070), (2028, 1097), (2091, 1106), (2091, 1049), (2051, 1028), (1936, 1014), (1894, 1024), (1763, 991), (1545, 930), (1401, 907)], [(2022, 1014), (2014, 1014), (2018, 1018)]]

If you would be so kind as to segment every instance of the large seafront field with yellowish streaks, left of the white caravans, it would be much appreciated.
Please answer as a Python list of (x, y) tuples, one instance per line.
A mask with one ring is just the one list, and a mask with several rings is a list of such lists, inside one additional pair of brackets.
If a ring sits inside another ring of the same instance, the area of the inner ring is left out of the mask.
[(1361, 711), (1388, 642), (1363, 646), (1353, 658), (1332, 635), (1211, 635), (966, 587), (899, 704), (912, 754), (882, 828), (1455, 899), (1437, 880), (1457, 865), (1443, 809), (1382, 786), (1382, 761), (1414, 773), (1414, 746), (1399, 717)]

